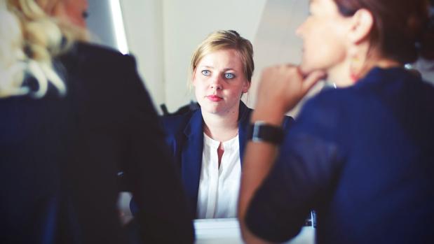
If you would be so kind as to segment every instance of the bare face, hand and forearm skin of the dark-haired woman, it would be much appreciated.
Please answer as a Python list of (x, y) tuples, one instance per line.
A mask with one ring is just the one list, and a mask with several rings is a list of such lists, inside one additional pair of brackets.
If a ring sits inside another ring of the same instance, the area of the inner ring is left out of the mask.
[[(355, 81), (350, 75), (353, 57), (364, 61), (355, 69), (359, 78), (373, 66), (387, 68), (400, 65), (381, 57), (381, 52), (369, 43), (374, 22), (369, 10), (360, 9), (355, 15), (344, 17), (332, 0), (313, 0), (310, 10), (311, 15), (297, 29), (297, 34), (304, 41), (301, 64), (264, 69), (251, 122), (262, 120), (280, 126), (285, 113), (294, 108), (308, 90), (325, 76), (339, 87), (353, 85)], [(252, 234), (244, 220), (252, 196), (269, 174), (277, 154), (278, 147), (271, 143), (250, 141), (246, 145), (238, 200), (238, 219), (246, 243), (269, 243)]]

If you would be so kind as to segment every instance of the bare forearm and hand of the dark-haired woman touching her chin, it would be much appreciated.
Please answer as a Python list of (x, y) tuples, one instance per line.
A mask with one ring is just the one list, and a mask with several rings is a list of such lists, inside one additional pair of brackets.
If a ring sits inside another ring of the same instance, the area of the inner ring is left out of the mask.
[[(262, 120), (280, 126), (287, 110), (294, 108), (323, 73), (316, 72), (304, 79), (295, 66), (276, 66), (266, 69), (259, 85), (257, 107), (251, 122)], [(246, 243), (266, 243), (252, 234), (245, 224), (245, 215), (258, 187), (269, 174), (278, 155), (278, 147), (271, 143), (248, 142), (241, 177), (238, 218)]]

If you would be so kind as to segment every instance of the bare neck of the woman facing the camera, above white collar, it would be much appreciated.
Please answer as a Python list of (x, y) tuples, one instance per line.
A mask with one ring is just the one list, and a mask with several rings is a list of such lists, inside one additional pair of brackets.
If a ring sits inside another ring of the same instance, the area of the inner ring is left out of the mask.
[(215, 141), (229, 141), (238, 134), (238, 107), (225, 115), (202, 111), (202, 116), (203, 132)]

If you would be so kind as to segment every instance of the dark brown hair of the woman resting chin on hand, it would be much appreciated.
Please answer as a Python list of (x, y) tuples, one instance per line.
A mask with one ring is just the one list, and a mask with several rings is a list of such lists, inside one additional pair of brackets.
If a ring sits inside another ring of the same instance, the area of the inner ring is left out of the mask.
[(334, 0), (339, 12), (352, 16), (365, 8), (374, 17), (370, 41), (384, 57), (402, 64), (419, 56), (434, 59), (434, 26), (428, 0)]

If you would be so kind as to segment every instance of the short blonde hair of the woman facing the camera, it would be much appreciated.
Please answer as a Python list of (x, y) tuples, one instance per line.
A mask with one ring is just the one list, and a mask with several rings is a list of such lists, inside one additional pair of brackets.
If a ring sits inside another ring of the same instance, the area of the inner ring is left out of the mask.
[(208, 35), (191, 56), (191, 64), (189, 69), (189, 84), (193, 78), (194, 70), (201, 59), (205, 55), (218, 50), (233, 49), (238, 52), (243, 63), (244, 77), (251, 82), (255, 64), (253, 63), (253, 47), (249, 40), (243, 38), (238, 32), (233, 30), (215, 31)]

